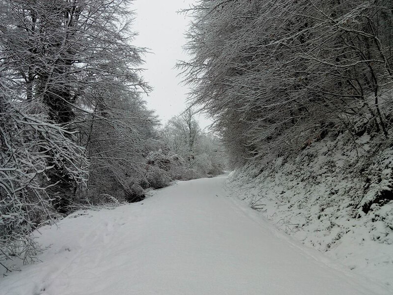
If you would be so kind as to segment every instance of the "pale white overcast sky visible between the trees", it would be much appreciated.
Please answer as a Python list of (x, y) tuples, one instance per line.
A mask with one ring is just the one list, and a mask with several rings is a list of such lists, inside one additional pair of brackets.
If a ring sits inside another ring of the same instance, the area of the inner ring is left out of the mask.
[[(139, 32), (134, 44), (147, 47), (143, 77), (154, 89), (145, 96), (149, 109), (156, 111), (163, 124), (186, 108), (187, 87), (179, 85), (181, 77), (174, 69), (177, 60), (186, 59), (182, 46), (189, 18), (177, 11), (188, 8), (193, 0), (134, 0), (136, 20), (133, 29)], [(198, 116), (201, 128), (211, 123)]]

